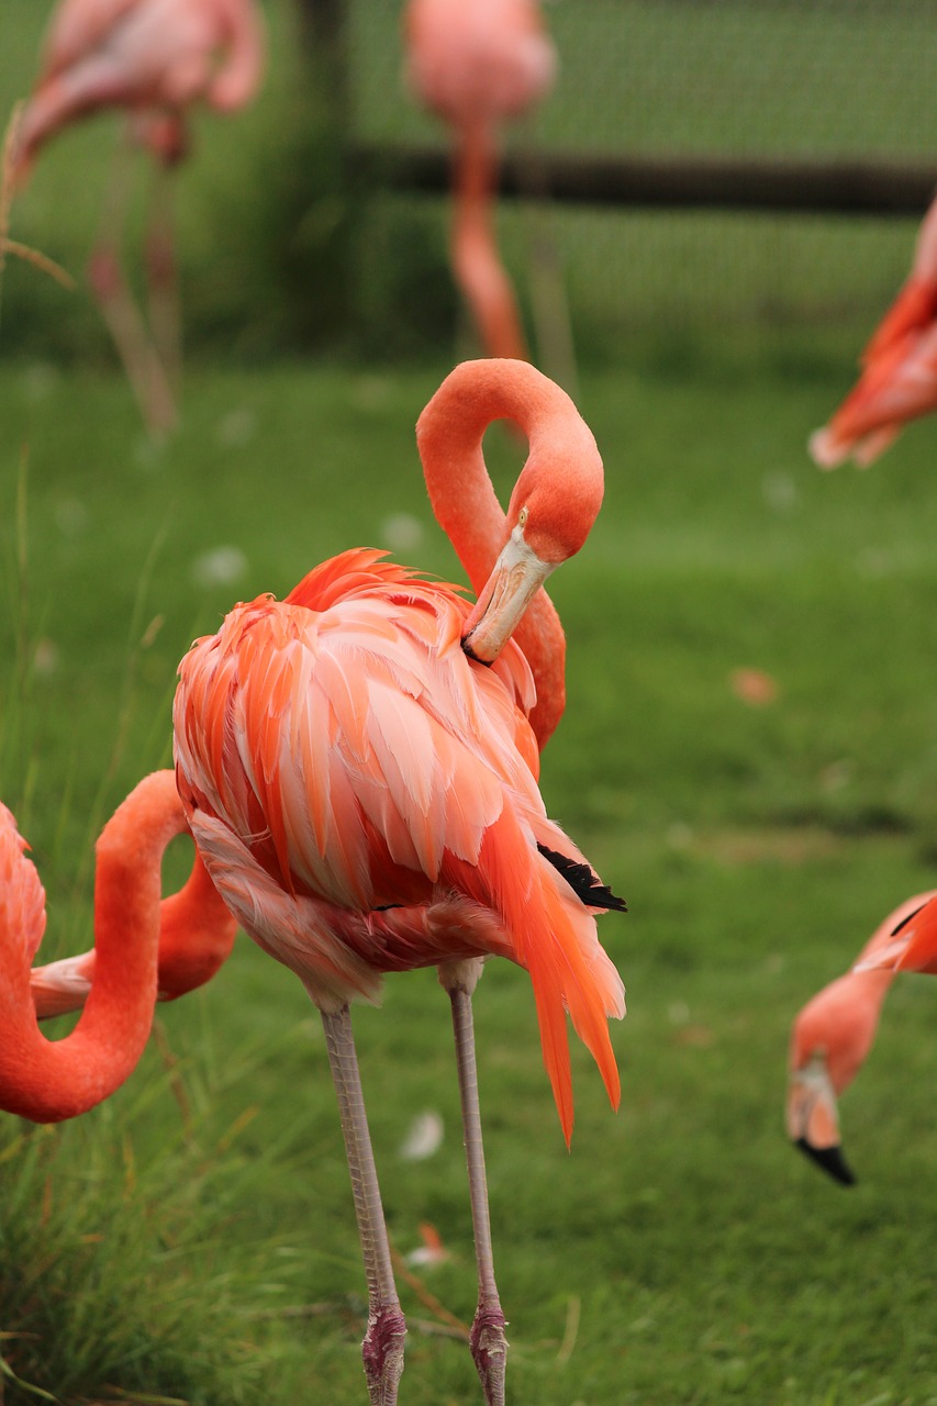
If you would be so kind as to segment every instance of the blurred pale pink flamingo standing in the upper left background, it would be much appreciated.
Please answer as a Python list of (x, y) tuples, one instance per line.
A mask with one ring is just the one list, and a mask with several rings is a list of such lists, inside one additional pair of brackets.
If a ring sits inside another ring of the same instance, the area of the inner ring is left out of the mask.
[(190, 146), (189, 114), (205, 103), (234, 112), (256, 94), (264, 38), (255, 0), (60, 0), (39, 76), (18, 122), (11, 186), (21, 190), (58, 132), (103, 110), (127, 112), (127, 146), (156, 163), (145, 249), (149, 330), (122, 271), (129, 184), (118, 165), (89, 281), (155, 436), (177, 420), (180, 328), (169, 174)]

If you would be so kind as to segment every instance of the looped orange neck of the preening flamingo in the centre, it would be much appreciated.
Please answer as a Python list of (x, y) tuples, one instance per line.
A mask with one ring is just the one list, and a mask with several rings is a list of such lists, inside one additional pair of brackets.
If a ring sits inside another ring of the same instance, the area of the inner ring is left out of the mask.
[[(426, 491), (436, 522), (452, 541), (476, 595), (506, 536), (506, 516), (485, 467), (481, 440), (497, 419), (512, 419), (529, 441), (528, 460), (564, 436), (570, 399), (526, 361), (464, 361), (446, 378), (416, 425)], [(577, 416), (578, 419), (578, 416)], [(566, 637), (546, 591), (539, 591), (515, 631), (537, 689), (530, 725), (543, 747), (566, 704)]]

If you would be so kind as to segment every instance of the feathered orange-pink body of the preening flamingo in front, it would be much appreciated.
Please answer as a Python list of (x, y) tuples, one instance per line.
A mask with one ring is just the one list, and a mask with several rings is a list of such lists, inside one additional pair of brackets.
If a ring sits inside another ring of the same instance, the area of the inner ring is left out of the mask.
[(544, 853), (585, 865), (536, 786), (526, 661), (468, 659), (468, 614), (373, 551), (236, 607), (180, 666), (179, 789), (215, 887), (318, 1005), (374, 1000), (383, 972), (525, 966), (568, 1139), (564, 1008), (616, 1104), (623, 988), (598, 880), (588, 905)]

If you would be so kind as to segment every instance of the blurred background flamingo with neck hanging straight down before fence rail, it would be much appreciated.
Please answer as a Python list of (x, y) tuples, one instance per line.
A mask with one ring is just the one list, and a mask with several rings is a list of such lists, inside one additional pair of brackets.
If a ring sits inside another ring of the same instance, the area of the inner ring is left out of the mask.
[(549, 90), (556, 52), (536, 0), (411, 0), (407, 75), (454, 129), (450, 253), (481, 344), (528, 359), (511, 278), (498, 256), (494, 188), (498, 125)]

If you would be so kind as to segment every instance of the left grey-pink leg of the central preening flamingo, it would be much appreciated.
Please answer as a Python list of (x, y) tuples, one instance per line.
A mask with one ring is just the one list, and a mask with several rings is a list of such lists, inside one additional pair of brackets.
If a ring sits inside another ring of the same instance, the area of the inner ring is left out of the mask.
[(321, 1011), (321, 1015), (338, 1094), (367, 1281), (367, 1331), (362, 1344), (367, 1392), (371, 1406), (395, 1406), (397, 1386), (404, 1371), (407, 1324), (394, 1285), (390, 1241), (355, 1053), (352, 1017), (348, 1005), (338, 1011)]

